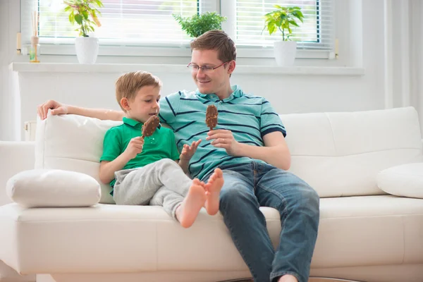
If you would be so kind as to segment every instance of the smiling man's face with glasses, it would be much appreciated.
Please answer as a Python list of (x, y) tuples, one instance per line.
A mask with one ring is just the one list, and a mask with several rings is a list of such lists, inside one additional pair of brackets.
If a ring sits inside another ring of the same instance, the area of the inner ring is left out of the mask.
[[(216, 93), (229, 84), (228, 64), (218, 59), (216, 50), (192, 50), (192, 78), (200, 93)], [(198, 66), (200, 68), (197, 68)], [(216, 68), (217, 66), (219, 68)], [(201, 67), (206, 67), (207, 71), (203, 71)]]

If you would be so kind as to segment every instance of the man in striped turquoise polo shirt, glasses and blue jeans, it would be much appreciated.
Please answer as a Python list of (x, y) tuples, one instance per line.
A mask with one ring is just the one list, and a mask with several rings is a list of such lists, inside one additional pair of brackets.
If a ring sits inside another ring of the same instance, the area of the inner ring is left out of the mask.
[[(226, 33), (214, 30), (191, 42), (188, 66), (198, 87), (161, 99), (159, 117), (175, 132), (178, 149), (196, 140), (188, 170), (205, 181), (214, 168), (223, 171), (220, 211), (233, 242), (258, 282), (307, 282), (319, 226), (319, 196), (289, 173), (286, 130), (263, 97), (231, 87), (236, 49)], [(207, 106), (219, 110), (218, 125), (205, 124)], [(80, 114), (121, 121), (123, 112), (82, 109), (49, 101), (39, 106), (41, 118), (51, 114)], [(274, 250), (259, 207), (273, 207), (281, 216), (280, 244)]]

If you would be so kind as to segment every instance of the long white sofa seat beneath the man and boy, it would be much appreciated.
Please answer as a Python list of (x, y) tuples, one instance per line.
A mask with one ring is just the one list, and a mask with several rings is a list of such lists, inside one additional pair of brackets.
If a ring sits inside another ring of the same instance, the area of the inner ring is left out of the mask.
[[(274, 245), (276, 209), (262, 208)], [(423, 263), (423, 200), (391, 195), (321, 199), (312, 268)], [(161, 207), (0, 207), (0, 257), (22, 274), (243, 271), (220, 214), (184, 229)], [(33, 254), (37, 254), (34, 256)]]

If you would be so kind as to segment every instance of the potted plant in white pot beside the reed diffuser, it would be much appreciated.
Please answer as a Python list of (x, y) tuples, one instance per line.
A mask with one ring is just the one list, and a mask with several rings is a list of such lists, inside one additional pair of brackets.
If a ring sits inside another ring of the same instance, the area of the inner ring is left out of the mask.
[(89, 32), (94, 32), (94, 26), (102, 26), (97, 16), (101, 15), (97, 8), (102, 8), (100, 0), (67, 0), (64, 11), (69, 13), (72, 25), (78, 25), (76, 31), (79, 37), (75, 39), (76, 56), (80, 63), (95, 63), (99, 54), (99, 39), (89, 37)]

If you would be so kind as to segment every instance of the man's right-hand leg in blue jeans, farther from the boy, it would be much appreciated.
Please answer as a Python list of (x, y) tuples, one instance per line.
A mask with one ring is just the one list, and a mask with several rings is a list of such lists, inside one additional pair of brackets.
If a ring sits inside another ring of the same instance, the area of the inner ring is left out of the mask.
[(278, 209), (281, 238), (272, 260), (271, 281), (292, 275), (307, 282), (319, 226), (319, 195), (293, 173), (256, 164), (259, 204)]

